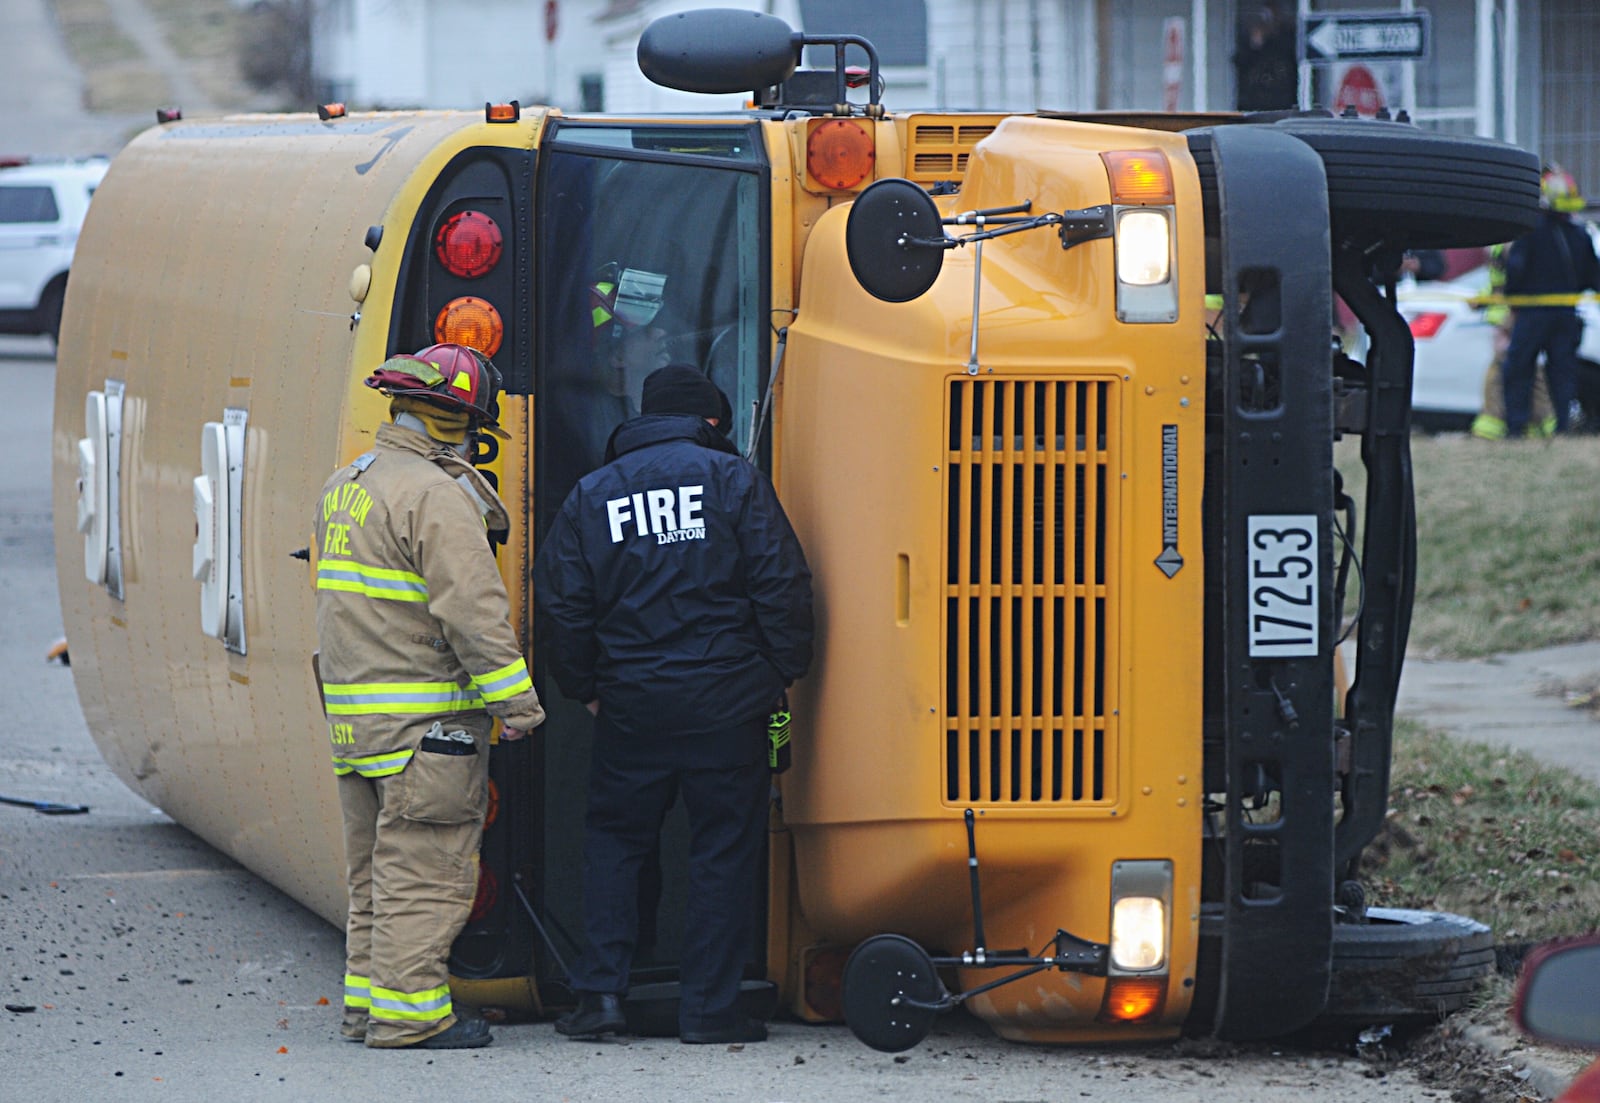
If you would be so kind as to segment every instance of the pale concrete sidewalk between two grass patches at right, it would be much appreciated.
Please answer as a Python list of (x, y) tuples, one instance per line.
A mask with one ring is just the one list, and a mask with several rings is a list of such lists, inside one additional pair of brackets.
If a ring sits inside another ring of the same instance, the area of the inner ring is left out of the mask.
[(1462, 740), (1510, 746), (1600, 783), (1600, 717), (1563, 685), (1600, 682), (1600, 642), (1446, 661), (1406, 658), (1397, 712)]

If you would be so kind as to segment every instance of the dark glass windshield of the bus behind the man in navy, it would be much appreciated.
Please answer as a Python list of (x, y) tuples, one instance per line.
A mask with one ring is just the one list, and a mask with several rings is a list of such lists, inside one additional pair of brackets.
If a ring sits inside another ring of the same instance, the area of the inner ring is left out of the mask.
[[(638, 415), (643, 378), (658, 367), (685, 362), (710, 375), (733, 405), (733, 439), (747, 450), (771, 347), (768, 191), (765, 150), (752, 122), (552, 120), (541, 142), (534, 203), (530, 522), (536, 547), (566, 493), (603, 463), (616, 426)], [(534, 664), (549, 719), (536, 748), (542, 807), (533, 816), (539, 863), (533, 895), (570, 961), (582, 943), (582, 820), (594, 719), (547, 676), (538, 629)], [(677, 805), (662, 832), (659, 868), (646, 863), (642, 877), (635, 983), (677, 978), (686, 853)], [(758, 922), (754, 975), (763, 972), (763, 930)], [(544, 965), (542, 983), (562, 980)]]

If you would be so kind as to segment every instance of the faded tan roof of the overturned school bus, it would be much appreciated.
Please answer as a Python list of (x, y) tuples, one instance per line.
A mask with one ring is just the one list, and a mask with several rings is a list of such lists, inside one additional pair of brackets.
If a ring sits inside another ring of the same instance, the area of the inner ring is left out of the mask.
[[(362, 307), (350, 274), (371, 259), (368, 226), (410, 232), (443, 160), (472, 144), (526, 147), (541, 117), (347, 123), (202, 122), (146, 131), (118, 154), (74, 272), (53, 447), (62, 615), (101, 752), (136, 792), (336, 924), (344, 858), (309, 666), (315, 575), (290, 552), (307, 546), (326, 475), (370, 447), (387, 413), (362, 379), (387, 355), (395, 272), (373, 266)], [(83, 399), (109, 378), (128, 387), (122, 600), (83, 580), (74, 551)], [(202, 636), (189, 572), (200, 426), (227, 407), (250, 410), (245, 655)], [(525, 442), (525, 405), (512, 400), (504, 419)], [(504, 464), (510, 499), (522, 469)], [(525, 624), (523, 530), (501, 564)]]

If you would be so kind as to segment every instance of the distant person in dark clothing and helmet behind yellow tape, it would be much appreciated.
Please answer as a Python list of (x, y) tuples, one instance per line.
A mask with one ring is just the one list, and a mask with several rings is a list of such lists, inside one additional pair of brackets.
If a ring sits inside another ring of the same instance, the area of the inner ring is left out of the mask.
[(1506, 255), (1506, 298), (1515, 307), (1510, 344), (1502, 368), (1506, 379), (1506, 435), (1520, 437), (1533, 416), (1533, 373), (1544, 352), (1550, 381), (1555, 431), (1566, 432), (1578, 397), (1578, 344), (1584, 322), (1578, 299), (1600, 290), (1600, 261), (1589, 234), (1573, 221), (1584, 197), (1560, 168), (1546, 168), (1539, 179), (1544, 216), (1517, 239)]

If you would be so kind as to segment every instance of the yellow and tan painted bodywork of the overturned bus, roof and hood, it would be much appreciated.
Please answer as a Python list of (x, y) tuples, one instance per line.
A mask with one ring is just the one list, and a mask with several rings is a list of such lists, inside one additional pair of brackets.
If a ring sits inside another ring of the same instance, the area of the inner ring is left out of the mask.
[[(136, 792), (334, 924), (344, 858), (309, 668), (314, 591), (291, 552), (306, 547), (326, 474), (370, 447), (386, 413), (362, 378), (394, 351), (402, 251), (368, 250), (363, 234), (378, 226), (386, 243), (408, 240), (451, 157), (536, 149), (554, 117), (491, 125), (480, 114), (411, 112), (157, 128), (115, 160), (74, 267), (53, 459), (62, 610), (90, 728)], [(1203, 815), (1200, 219), (1173, 223), (1179, 314), (1163, 325), (1117, 322), (1110, 240), (1072, 250), (1051, 232), (990, 242), (971, 375), (973, 250), (950, 253), (933, 290), (912, 303), (862, 291), (845, 259), (859, 189), (806, 178), (816, 122), (758, 123), (771, 181), (770, 307), (789, 325), (771, 467), (814, 570), (819, 640), (794, 695), (795, 765), (773, 818), (766, 973), (790, 1009), (818, 1018), (837, 1013), (813, 991), (813, 965), (829, 949), (880, 932), (939, 953), (970, 948), (963, 812), (973, 808), (990, 946), (1037, 953), (1058, 930), (1107, 941), (1117, 861), (1171, 863), (1173, 901), (1157, 1017), (1099, 1025), (1104, 981), (1064, 972), (970, 1007), (1029, 1041), (1174, 1034), (1195, 980)], [(1181, 136), (992, 114), (862, 125), (875, 138), (874, 176), (965, 179), (958, 199), (939, 200), (947, 213), (1022, 199), (1034, 210), (1109, 203), (1106, 149), (1165, 150), (1176, 207), (1200, 205)], [(360, 266), (370, 266), (370, 290), (354, 304)], [(82, 411), (107, 379), (126, 387), (120, 599), (85, 581), (74, 551)], [(1088, 431), (1080, 439), (1050, 419), (1037, 442), (1010, 421), (986, 434), (973, 424), (982, 400), (1014, 402), (1021, 418), (1059, 403), (1064, 418), (1082, 411)], [(533, 547), (522, 519), (534, 485), (533, 402), (502, 399), (514, 439), (493, 464), (514, 515), (501, 568), (530, 648)], [(245, 653), (194, 626), (190, 479), (200, 426), (224, 408), (248, 410)], [(1171, 578), (1154, 565), (1173, 501), (1163, 426), (1182, 442), (1186, 568)], [(957, 515), (952, 469), (990, 472), (995, 485), (1038, 469), (1062, 485), (1082, 475), (1083, 488), (1051, 515), (1005, 495), (987, 512)], [(1069, 509), (1091, 517), (1086, 581), (1034, 583), (1032, 546), (998, 533), (1048, 530), (1045, 554), (1070, 564), (1078, 554), (1056, 546), (1074, 539)], [(974, 528), (997, 535), (979, 539)], [(1058, 642), (1051, 618), (1080, 608), (1090, 626), (1069, 626)], [(1035, 610), (1037, 632), (1021, 620)], [(1013, 688), (952, 685), (947, 647), (979, 664), (990, 648), (1005, 648), (1002, 658), (1021, 648), (1008, 661), (1029, 666), (1043, 655), (1046, 669), (1064, 671), (1067, 696), (1051, 688), (1053, 703), (1016, 740), (973, 735), (984, 728), (974, 717), (1013, 711)], [(1051, 757), (1054, 738), (1077, 765)], [(1022, 781), (1035, 773), (1056, 778), (1059, 792), (1048, 780), (1038, 792)], [(989, 978), (963, 970), (962, 981)]]

